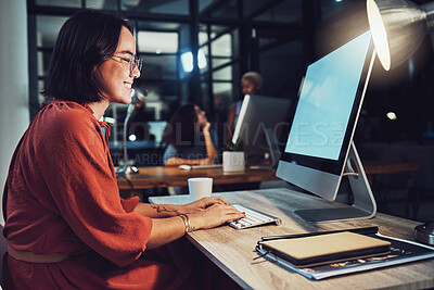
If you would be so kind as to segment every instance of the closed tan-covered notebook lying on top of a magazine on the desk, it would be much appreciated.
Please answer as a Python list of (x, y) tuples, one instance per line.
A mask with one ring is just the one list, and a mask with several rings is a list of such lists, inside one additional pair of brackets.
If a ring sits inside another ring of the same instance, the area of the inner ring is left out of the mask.
[(388, 241), (349, 231), (270, 240), (260, 244), (264, 250), (297, 267), (382, 255), (391, 251)]

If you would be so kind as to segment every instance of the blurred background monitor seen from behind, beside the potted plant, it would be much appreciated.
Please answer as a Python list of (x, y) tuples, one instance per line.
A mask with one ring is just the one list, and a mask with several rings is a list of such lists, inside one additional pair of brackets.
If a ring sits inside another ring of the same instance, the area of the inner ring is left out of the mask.
[[(243, 141), (247, 164), (259, 164), (265, 153), (270, 154), (270, 166), (277, 165), (289, 129), (291, 100), (246, 94), (232, 136), (232, 142)], [(286, 135), (285, 135), (286, 133)]]

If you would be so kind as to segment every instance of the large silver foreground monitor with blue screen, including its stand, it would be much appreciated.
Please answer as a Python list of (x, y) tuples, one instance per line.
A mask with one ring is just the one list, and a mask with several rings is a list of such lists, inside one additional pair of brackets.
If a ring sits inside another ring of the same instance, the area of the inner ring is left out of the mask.
[(307, 67), (277, 176), (334, 201), (348, 176), (354, 203), (301, 210), (309, 222), (374, 216), (376, 204), (353, 143), (375, 51), (366, 31)]

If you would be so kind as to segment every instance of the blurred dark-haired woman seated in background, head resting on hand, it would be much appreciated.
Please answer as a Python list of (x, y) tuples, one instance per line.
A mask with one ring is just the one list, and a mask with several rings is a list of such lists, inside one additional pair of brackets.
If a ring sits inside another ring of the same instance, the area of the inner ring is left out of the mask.
[(215, 164), (217, 137), (210, 124), (195, 104), (181, 105), (171, 116), (163, 134), (168, 144), (163, 162), (169, 165)]

